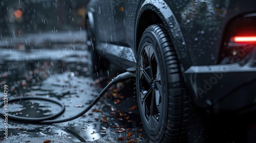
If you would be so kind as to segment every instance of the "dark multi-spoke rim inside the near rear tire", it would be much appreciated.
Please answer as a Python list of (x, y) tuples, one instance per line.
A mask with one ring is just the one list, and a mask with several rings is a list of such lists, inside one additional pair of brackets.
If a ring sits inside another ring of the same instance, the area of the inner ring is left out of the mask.
[(160, 122), (162, 97), (159, 62), (151, 45), (144, 46), (139, 63), (140, 104), (147, 125), (153, 129)]

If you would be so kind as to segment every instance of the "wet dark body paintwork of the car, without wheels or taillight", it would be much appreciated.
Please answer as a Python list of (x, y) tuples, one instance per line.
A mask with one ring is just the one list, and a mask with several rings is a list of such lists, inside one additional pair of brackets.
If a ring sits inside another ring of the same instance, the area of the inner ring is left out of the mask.
[[(237, 110), (255, 103), (252, 99), (255, 99), (253, 93), (256, 89), (252, 89), (250, 83), (256, 79), (256, 68), (246, 65), (249, 61), (243, 61), (243, 65), (239, 62), (220, 64), (222, 49), (228, 42), (226, 39), (229, 39), (227, 29), (230, 21), (255, 13), (255, 5), (256, 1), (249, 0), (94, 0), (89, 3), (88, 11), (93, 13), (95, 49), (101, 56), (112, 59), (123, 68), (134, 66), (135, 63), (127, 62), (129, 60), (121, 58), (123, 56), (113, 57), (111, 48), (109, 54), (104, 54), (102, 46), (99, 46), (105, 43), (107, 47), (115, 44), (117, 49), (119, 46), (131, 48), (133, 53), (128, 54), (136, 59), (143, 31), (150, 25), (162, 23), (174, 43), (195, 103), (203, 108), (212, 106), (217, 113), (219, 110)], [(125, 55), (124, 52), (122, 54)], [(253, 55), (253, 51), (248, 55)], [(218, 78), (216, 74), (222, 76)], [(207, 82), (213, 83), (210, 83), (211, 87), (207, 88)], [(247, 97), (243, 94), (245, 90)], [(236, 104), (224, 100), (233, 96), (238, 99)], [(239, 108), (236, 108), (237, 104), (241, 104)], [(227, 109), (227, 106), (232, 107)]]

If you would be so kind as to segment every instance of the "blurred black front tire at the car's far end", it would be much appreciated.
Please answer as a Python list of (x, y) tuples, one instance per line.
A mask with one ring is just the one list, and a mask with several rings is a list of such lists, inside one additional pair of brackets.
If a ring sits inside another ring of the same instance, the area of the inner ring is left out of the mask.
[(97, 51), (95, 50), (96, 42), (95, 42), (95, 29), (90, 23), (90, 19), (87, 16), (86, 18), (86, 32), (87, 32), (87, 45), (88, 50), (91, 53), (92, 59), (92, 72), (93, 77), (97, 79), (98, 77), (105, 75), (105, 70), (109, 67), (109, 60), (104, 57), (99, 56)]

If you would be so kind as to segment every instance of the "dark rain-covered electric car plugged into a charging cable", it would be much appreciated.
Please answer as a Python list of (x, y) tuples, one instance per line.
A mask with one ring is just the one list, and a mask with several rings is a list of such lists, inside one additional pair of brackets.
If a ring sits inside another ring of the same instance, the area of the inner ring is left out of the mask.
[(249, 0), (90, 1), (94, 71), (104, 73), (109, 62), (136, 67), (138, 107), (152, 142), (201, 142), (206, 113), (256, 109), (255, 6)]

